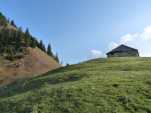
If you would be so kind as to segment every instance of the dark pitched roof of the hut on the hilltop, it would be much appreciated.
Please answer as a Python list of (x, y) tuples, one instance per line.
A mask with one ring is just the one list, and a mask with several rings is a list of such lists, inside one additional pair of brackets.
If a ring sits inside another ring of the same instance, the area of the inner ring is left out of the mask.
[(126, 52), (126, 51), (137, 51), (137, 52), (138, 52), (137, 49), (134, 49), (134, 48), (132, 48), (132, 47), (128, 47), (128, 46), (122, 44), (122, 45), (116, 47), (115, 49), (111, 50), (111, 51), (108, 52), (107, 54), (115, 53), (115, 52), (121, 52), (121, 51), (122, 51), (122, 52)]

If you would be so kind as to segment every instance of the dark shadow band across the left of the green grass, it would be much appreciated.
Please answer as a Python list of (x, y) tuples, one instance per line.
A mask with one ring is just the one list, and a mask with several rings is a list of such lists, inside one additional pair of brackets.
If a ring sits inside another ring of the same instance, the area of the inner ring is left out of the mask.
[[(12, 84), (1, 87), (0, 98), (13, 96), (30, 90), (36, 90), (43, 87), (45, 84), (55, 85), (59, 83), (78, 81), (86, 76), (85, 73), (62, 73), (66, 68), (62, 67), (31, 79), (17, 80)], [(57, 72), (61, 73), (57, 74)]]

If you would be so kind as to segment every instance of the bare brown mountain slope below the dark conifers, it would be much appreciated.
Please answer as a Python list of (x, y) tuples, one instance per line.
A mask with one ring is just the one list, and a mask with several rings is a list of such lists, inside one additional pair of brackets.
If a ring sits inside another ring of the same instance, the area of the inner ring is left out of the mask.
[(26, 52), (24, 57), (14, 61), (6, 60), (3, 57), (0, 59), (0, 85), (44, 74), (61, 66), (39, 48), (28, 47)]

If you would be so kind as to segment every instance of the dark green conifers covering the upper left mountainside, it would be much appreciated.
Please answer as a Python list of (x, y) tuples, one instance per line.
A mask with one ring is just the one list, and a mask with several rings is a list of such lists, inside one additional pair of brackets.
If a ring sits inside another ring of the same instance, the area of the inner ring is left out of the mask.
[(23, 53), (26, 47), (38, 47), (59, 62), (58, 55), (52, 52), (51, 44), (46, 47), (43, 41), (38, 41), (28, 29), (23, 31), (13, 20), (9, 21), (0, 13), (0, 54), (13, 58)]

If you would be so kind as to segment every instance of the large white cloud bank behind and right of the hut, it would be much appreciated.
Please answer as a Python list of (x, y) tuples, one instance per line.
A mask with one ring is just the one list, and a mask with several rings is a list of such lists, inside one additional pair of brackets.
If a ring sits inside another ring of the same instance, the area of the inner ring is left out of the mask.
[(113, 47), (117, 47), (120, 44), (126, 44), (137, 48), (141, 56), (151, 56), (151, 26), (144, 28), (142, 32), (128, 33), (122, 36), (118, 43), (111, 42)]

